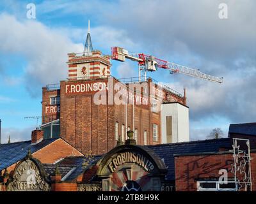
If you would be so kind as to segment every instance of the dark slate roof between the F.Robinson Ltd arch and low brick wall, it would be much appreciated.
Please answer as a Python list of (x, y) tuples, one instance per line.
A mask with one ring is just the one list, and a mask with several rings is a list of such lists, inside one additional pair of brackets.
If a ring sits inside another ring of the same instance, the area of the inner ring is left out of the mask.
[(174, 154), (195, 154), (199, 152), (218, 152), (220, 148), (232, 148), (230, 138), (214, 140), (199, 140), (192, 142), (167, 143), (162, 145), (148, 145), (156, 154), (164, 160), (168, 170), (166, 179), (175, 179)]

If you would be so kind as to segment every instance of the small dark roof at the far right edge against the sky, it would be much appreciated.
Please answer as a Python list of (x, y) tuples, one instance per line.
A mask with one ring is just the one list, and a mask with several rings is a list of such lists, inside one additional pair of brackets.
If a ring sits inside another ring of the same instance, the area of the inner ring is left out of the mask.
[(239, 133), (243, 135), (255, 135), (256, 136), (256, 122), (230, 124), (228, 133)]

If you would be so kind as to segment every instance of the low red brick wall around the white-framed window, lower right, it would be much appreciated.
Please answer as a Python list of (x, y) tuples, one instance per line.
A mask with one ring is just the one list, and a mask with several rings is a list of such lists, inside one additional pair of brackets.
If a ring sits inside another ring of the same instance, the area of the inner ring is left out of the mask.
[[(252, 153), (252, 186), (256, 190), (256, 157)], [(216, 154), (203, 156), (175, 157), (175, 188), (176, 191), (196, 191), (196, 180), (205, 178), (219, 178), (219, 170), (226, 169), (228, 178), (234, 178), (230, 172), (234, 163), (232, 154)]]

